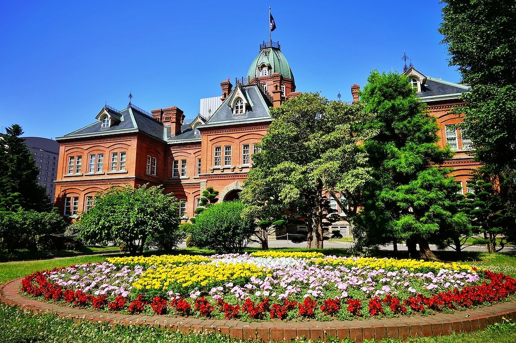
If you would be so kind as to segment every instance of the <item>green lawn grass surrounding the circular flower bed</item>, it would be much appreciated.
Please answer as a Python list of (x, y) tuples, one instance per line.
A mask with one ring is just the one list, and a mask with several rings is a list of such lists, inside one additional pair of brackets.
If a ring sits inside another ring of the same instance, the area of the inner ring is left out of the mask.
[[(248, 249), (255, 251), (257, 249)], [(307, 249), (278, 249), (281, 251), (303, 251)], [(325, 249), (326, 254), (346, 254), (345, 249)], [(169, 252), (170, 253), (170, 252)], [(209, 254), (210, 251), (200, 249), (178, 249), (173, 254)], [(157, 254), (152, 251), (147, 254)], [(389, 255), (382, 252), (382, 256)], [(391, 252), (391, 256), (398, 254)], [(401, 254), (401, 257), (407, 256)], [(464, 261), (471, 265), (487, 268), (493, 271), (500, 271), (516, 277), (516, 255), (509, 253), (483, 253), (463, 252), (457, 258), (453, 252), (440, 254), (440, 258), (447, 261)], [(7, 262), (0, 263), (0, 283), (25, 276), (36, 270), (52, 269), (54, 267), (68, 266), (73, 264), (100, 262), (105, 257), (101, 255), (84, 255), (74, 258), (60, 258), (44, 261), (28, 262)], [(493, 325), (486, 330), (467, 334), (453, 334), (450, 336), (412, 338), (403, 342), (410, 343), (483, 343), (486, 341), (494, 343), (510, 343), (516, 336), (516, 325), (513, 322), (505, 322)], [(35, 315), (30, 312), (23, 312), (17, 307), (9, 307), (0, 304), (0, 341), (11, 342), (186, 342), (186, 343), (229, 343), (229, 342), (250, 342), (243, 340), (233, 341), (223, 335), (190, 334), (182, 335), (177, 332), (169, 332), (158, 328), (142, 328), (130, 325), (122, 327), (116, 325), (111, 328), (106, 323), (92, 323), (60, 318), (53, 314)], [(336, 342), (336, 340), (334, 340)], [(346, 340), (344, 340), (346, 342)], [(377, 341), (375, 341), (376, 343)], [(399, 340), (387, 339), (381, 343), (396, 343)]]

